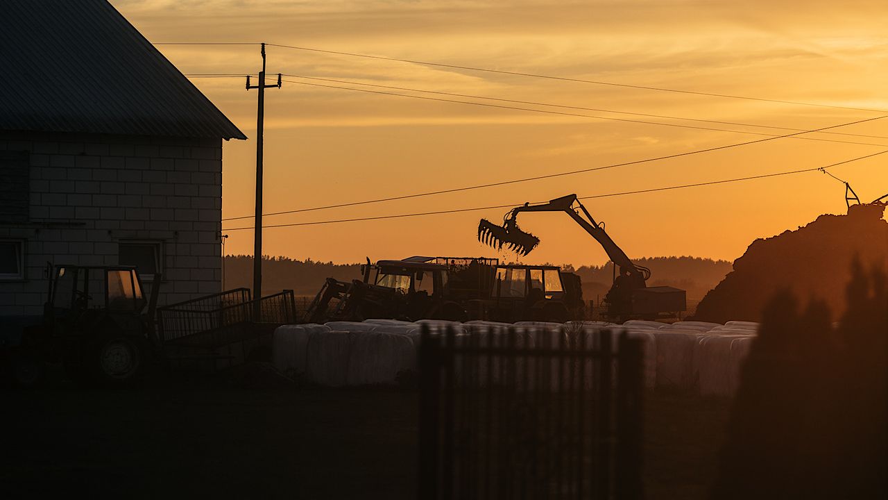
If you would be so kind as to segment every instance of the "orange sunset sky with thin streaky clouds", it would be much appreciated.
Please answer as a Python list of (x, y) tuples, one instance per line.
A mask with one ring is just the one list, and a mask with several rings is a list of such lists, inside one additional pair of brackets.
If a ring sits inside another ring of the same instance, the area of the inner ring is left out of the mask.
[[(509, 76), (274, 46), (267, 49), (269, 73), (805, 130), (888, 115), (888, 3), (884, 0), (112, 0), (112, 4), (155, 43), (265, 41), (858, 109)], [(258, 45), (158, 48), (185, 74), (255, 74), (260, 63)], [(250, 141), (224, 145), (223, 217), (250, 215), (256, 91), (247, 92), (242, 78), (192, 81), (250, 137)], [(518, 106), (742, 132), (792, 132)], [(777, 139), (543, 181), (266, 217), (265, 223), (645, 190), (815, 168), (888, 150), (888, 118), (832, 132), (857, 135), (812, 133), (805, 137), (830, 141)], [(285, 82), (280, 90), (266, 93), (265, 212), (567, 172), (763, 137)], [(849, 181), (863, 201), (871, 201), (888, 193), (886, 166), (888, 154), (838, 165), (830, 172)], [(845, 210), (842, 184), (819, 172), (591, 199), (585, 205), (607, 223), (608, 233), (630, 257), (694, 255), (729, 260), (740, 256), (755, 238), (796, 229), (818, 214)], [(480, 217), (499, 222), (505, 211), (270, 228), (265, 230), (264, 253), (334, 262), (359, 262), (365, 255), (372, 260), (413, 254), (493, 256), (495, 251), (477, 241), (476, 228)], [(542, 240), (523, 262), (582, 265), (607, 261), (604, 251), (565, 214), (522, 214), (519, 222)], [(252, 253), (252, 230), (234, 230), (251, 225), (250, 219), (223, 223), (223, 232), (229, 235), (226, 254)]]

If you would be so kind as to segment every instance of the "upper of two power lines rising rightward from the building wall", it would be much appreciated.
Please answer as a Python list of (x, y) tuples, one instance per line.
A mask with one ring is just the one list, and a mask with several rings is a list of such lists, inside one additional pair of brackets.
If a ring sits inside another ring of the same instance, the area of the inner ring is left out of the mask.
[[(372, 92), (372, 91), (371, 91), (371, 92)], [(428, 99), (433, 99), (433, 98), (428, 98)], [(830, 125), (830, 126), (827, 126), (827, 127), (822, 127), (822, 128), (819, 128), (819, 129), (809, 130), (809, 131), (805, 131), (805, 132), (789, 133), (789, 134), (786, 134), (786, 135), (779, 135), (779, 136), (776, 136), (776, 137), (765, 137), (764, 139), (757, 139), (757, 140), (755, 140), (755, 141), (735, 142), (735, 143), (733, 143), (733, 144), (725, 144), (725, 145), (723, 145), (723, 146), (715, 146), (715, 147), (712, 147), (712, 148), (706, 148), (706, 149), (694, 149), (694, 150), (692, 150), (692, 151), (685, 151), (685, 152), (682, 152), (682, 153), (674, 153), (674, 154), (671, 154), (671, 155), (663, 155), (663, 156), (661, 156), (661, 157), (651, 157), (651, 158), (644, 158), (644, 159), (640, 159), (640, 160), (632, 160), (632, 161), (628, 161), (628, 162), (615, 163), (615, 164), (610, 164), (610, 165), (594, 166), (594, 167), (583, 168), (583, 169), (579, 169), (579, 170), (571, 170), (571, 171), (568, 171), (568, 172), (547, 173), (547, 174), (545, 174), (545, 175), (535, 175), (535, 176), (533, 176), (533, 177), (524, 177), (524, 178), (520, 178), (520, 179), (512, 179), (512, 180), (510, 180), (510, 181), (488, 182), (488, 183), (486, 183), (486, 184), (477, 184), (477, 185), (474, 185), (474, 186), (464, 186), (464, 187), (462, 187), (462, 188), (452, 188), (452, 189), (449, 189), (449, 190), (426, 191), (426, 192), (422, 192), (422, 193), (414, 193), (414, 194), (410, 194), (410, 195), (400, 195), (400, 196), (389, 197), (389, 198), (376, 198), (376, 199), (369, 199), (369, 200), (364, 200), (364, 201), (353, 201), (353, 202), (350, 202), (350, 203), (340, 203), (340, 204), (337, 204), (337, 205), (315, 206), (315, 207), (311, 207), (311, 208), (300, 208), (300, 209), (297, 209), (297, 210), (286, 210), (286, 211), (283, 211), (283, 212), (274, 212), (274, 213), (266, 214), (266, 215), (297, 214), (297, 213), (300, 213), (300, 212), (312, 212), (312, 211), (314, 211), (314, 210), (325, 210), (325, 209), (328, 209), (328, 208), (340, 208), (340, 207), (344, 207), (344, 206), (368, 205), (368, 204), (371, 204), (371, 203), (381, 203), (381, 202), (386, 202), (386, 201), (394, 201), (394, 200), (398, 200), (398, 199), (421, 198), (421, 197), (427, 197), (427, 196), (432, 196), (432, 195), (440, 195), (440, 194), (446, 194), (446, 193), (454, 193), (454, 192), (457, 192), (457, 191), (480, 190), (480, 189), (482, 189), (482, 188), (492, 188), (492, 187), (495, 187), (495, 186), (504, 186), (504, 185), (507, 185), (507, 184), (517, 184), (517, 183), (519, 183), (519, 182), (540, 181), (540, 180), (543, 180), (543, 179), (551, 179), (551, 178), (554, 178), (554, 177), (563, 177), (563, 176), (566, 176), (566, 175), (575, 175), (575, 174), (577, 174), (577, 173), (596, 172), (596, 171), (599, 171), (599, 170), (607, 170), (607, 169), (617, 168), (617, 167), (621, 167), (621, 166), (638, 165), (638, 164), (650, 163), (650, 162), (654, 162), (654, 161), (661, 161), (661, 160), (670, 159), (670, 158), (677, 158), (677, 157), (687, 157), (687, 156), (696, 155), (696, 154), (700, 154), (700, 153), (706, 153), (706, 152), (710, 152), (710, 151), (717, 151), (717, 150), (720, 150), (720, 149), (737, 148), (737, 147), (739, 147), (739, 146), (747, 146), (747, 145), (749, 145), (749, 144), (756, 144), (756, 143), (758, 143), (758, 142), (774, 141), (774, 140), (776, 140), (776, 139), (781, 139), (781, 138), (784, 138), (784, 137), (792, 137), (792, 136), (794, 136), (794, 135), (799, 135), (799, 134), (802, 134), (802, 133), (821, 132), (821, 131), (823, 131), (823, 130), (829, 130), (829, 129), (832, 129), (832, 128), (837, 128), (837, 127), (842, 127), (842, 126), (848, 126), (848, 125), (856, 125), (856, 124), (860, 124), (860, 123), (865, 123), (865, 122), (870, 122), (870, 121), (873, 121), (873, 120), (882, 119), (882, 118), (884, 118), (884, 117), (885, 117), (885, 116), (883, 116), (883, 117), (874, 117), (874, 118), (865, 118), (865, 119), (857, 120), (857, 121), (854, 121), (854, 122), (849, 122), (849, 123), (845, 123), (845, 124), (841, 124), (841, 125)], [(252, 215), (244, 215), (244, 216), (240, 216), (240, 217), (227, 217), (227, 218), (222, 219), (222, 220), (223, 220), (223, 221), (234, 221), (234, 220), (237, 220), (237, 219), (248, 219), (248, 218), (250, 218), (250, 217), (252, 217)]]

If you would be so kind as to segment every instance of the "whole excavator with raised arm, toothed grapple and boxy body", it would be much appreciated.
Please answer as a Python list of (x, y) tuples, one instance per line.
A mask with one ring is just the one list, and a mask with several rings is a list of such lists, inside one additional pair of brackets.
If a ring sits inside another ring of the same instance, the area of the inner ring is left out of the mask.
[(517, 218), (523, 212), (564, 212), (604, 248), (614, 262), (614, 283), (605, 296), (603, 316), (606, 318), (618, 321), (656, 319), (664, 314), (674, 317), (686, 310), (685, 290), (672, 286), (647, 286), (651, 270), (632, 262), (607, 235), (604, 222), (596, 222), (576, 195), (555, 198), (548, 203), (516, 206), (505, 215), (503, 225), (481, 219), (479, 241), (499, 250), (505, 246), (520, 255), (530, 254), (540, 239), (519, 228)]

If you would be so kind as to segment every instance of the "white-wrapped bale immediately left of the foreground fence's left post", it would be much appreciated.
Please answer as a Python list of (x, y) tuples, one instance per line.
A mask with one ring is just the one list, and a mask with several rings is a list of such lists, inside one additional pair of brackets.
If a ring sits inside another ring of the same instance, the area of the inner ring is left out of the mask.
[(416, 349), (407, 335), (353, 332), (347, 367), (348, 385), (397, 383), (399, 374), (416, 368)]

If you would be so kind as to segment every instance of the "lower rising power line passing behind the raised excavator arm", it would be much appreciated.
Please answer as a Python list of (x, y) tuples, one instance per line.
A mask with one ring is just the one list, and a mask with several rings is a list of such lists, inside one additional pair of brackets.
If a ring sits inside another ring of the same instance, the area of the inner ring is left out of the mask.
[[(888, 149), (886, 149), (884, 151), (879, 151), (877, 153), (872, 153), (872, 154), (869, 154), (869, 155), (866, 155), (863, 157), (855, 157), (852, 159), (836, 162), (831, 165), (817, 166), (817, 167), (805, 168), (805, 169), (801, 169), (801, 170), (791, 170), (788, 172), (778, 172), (778, 173), (764, 173), (761, 175), (750, 175), (749, 177), (737, 177), (734, 179), (723, 179), (720, 181), (695, 182), (693, 184), (680, 184), (678, 186), (667, 186), (667, 187), (662, 187), (662, 188), (652, 188), (652, 189), (648, 189), (648, 190), (633, 190), (633, 191), (622, 191), (622, 192), (616, 192), (616, 193), (607, 193), (607, 194), (601, 194), (601, 195), (591, 195), (591, 196), (585, 196), (585, 197), (578, 197), (578, 199), (611, 198), (611, 197), (626, 196), (626, 195), (636, 195), (636, 194), (641, 194), (641, 193), (652, 193), (652, 192), (657, 192), (657, 191), (682, 190), (682, 189), (686, 189), (686, 188), (711, 186), (711, 185), (715, 185), (715, 184), (726, 184), (729, 182), (752, 181), (755, 179), (765, 179), (765, 178), (769, 178), (769, 177), (779, 177), (782, 175), (793, 175), (793, 174), (797, 174), (797, 173), (807, 173), (807, 172), (816, 172), (816, 171), (820, 171), (820, 172), (828, 173), (829, 175), (832, 175), (831, 173), (827, 172), (828, 168), (832, 168), (832, 167), (838, 166), (838, 165), (844, 165), (847, 163), (852, 163), (852, 162), (866, 159), (869, 157), (876, 157), (879, 155), (884, 155), (885, 153), (888, 153)], [(331, 221), (294, 222), (294, 223), (289, 223), (289, 224), (273, 224), (273, 225), (263, 226), (263, 228), (264, 229), (265, 228), (287, 228), (287, 227), (296, 227), (296, 226), (315, 226), (315, 225), (320, 225), (320, 224), (334, 224), (334, 223), (339, 223), (339, 222), (379, 221), (379, 220), (383, 220), (383, 219), (400, 219), (400, 218), (404, 218), (404, 217), (419, 217), (419, 216), (424, 216), (424, 215), (478, 212), (481, 210), (491, 210), (494, 208), (512, 208), (512, 207), (520, 206), (520, 205), (523, 205), (523, 203), (515, 203), (515, 204), (511, 204), (511, 205), (478, 206), (478, 207), (474, 207), (474, 208), (456, 208), (453, 210), (439, 210), (439, 211), (435, 211), (435, 212), (420, 212), (420, 213), (414, 213), (414, 214), (379, 215), (376, 217), (357, 217), (357, 218), (353, 218), (353, 219), (335, 219), (335, 220), (331, 220)], [(242, 227), (242, 228), (226, 228), (224, 230), (237, 231), (237, 230), (252, 230), (252, 229), (254, 229), (254, 228)]]

